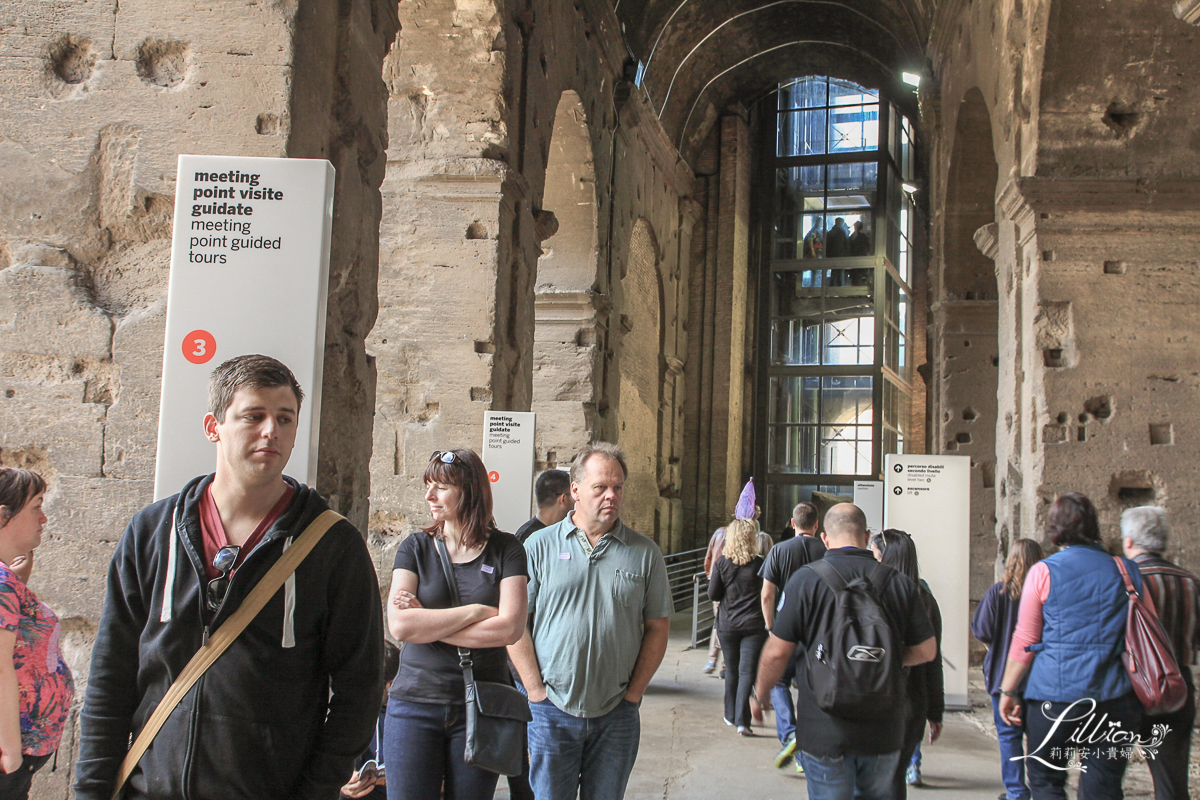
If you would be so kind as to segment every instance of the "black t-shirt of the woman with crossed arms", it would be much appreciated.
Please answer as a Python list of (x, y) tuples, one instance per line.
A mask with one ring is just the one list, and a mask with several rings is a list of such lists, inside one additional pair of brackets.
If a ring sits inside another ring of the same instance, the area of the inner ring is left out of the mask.
[[(418, 531), (400, 543), (392, 569), (416, 573), (416, 599), (425, 608), (450, 608), (450, 590), (442, 572), (433, 536)], [(500, 581), (529, 577), (526, 552), (512, 534), (492, 531), (484, 552), (466, 564), (454, 565), (458, 597), (463, 604), (500, 606)], [(475, 680), (511, 684), (504, 648), (472, 650)], [(400, 650), (400, 669), (389, 696), (414, 703), (463, 703), (458, 649), (445, 642), (406, 643)]]

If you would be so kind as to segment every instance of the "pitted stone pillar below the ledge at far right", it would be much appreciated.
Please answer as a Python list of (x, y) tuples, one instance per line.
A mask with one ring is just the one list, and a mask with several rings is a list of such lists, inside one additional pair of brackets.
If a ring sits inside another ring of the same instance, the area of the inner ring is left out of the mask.
[(1194, 570), (1200, 542), (1182, 534), (1200, 523), (1188, 449), (1200, 181), (1024, 179), (1019, 190), (1037, 222), (1025, 321), (1040, 389), (1030, 409), (1030, 451), (1042, 462), (1031, 522), (1040, 534), (1054, 497), (1082, 492), (1115, 543), (1124, 509), (1163, 505), (1180, 534), (1171, 557)]

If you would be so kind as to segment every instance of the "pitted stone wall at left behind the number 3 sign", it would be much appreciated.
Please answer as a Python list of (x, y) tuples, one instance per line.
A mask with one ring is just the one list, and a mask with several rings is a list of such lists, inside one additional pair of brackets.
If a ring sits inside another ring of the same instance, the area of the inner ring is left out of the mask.
[[(113, 547), (151, 499), (179, 154), (338, 168), (318, 488), (365, 522), (361, 296), (374, 295), (371, 152), (396, 19), (380, 2), (325, 5), (0, 5), (0, 463), (50, 481), (32, 588), (62, 618), (77, 706)], [(68, 795), (76, 735), (73, 711), (34, 796)]]

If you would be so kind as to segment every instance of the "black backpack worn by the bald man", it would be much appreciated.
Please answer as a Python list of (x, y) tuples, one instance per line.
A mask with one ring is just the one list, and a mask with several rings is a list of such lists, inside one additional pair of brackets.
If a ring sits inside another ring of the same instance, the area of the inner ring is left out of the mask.
[(804, 655), (817, 705), (835, 717), (877, 720), (904, 705), (904, 643), (880, 602), (894, 570), (878, 563), (847, 582), (828, 561), (814, 570), (834, 594), (833, 615)]

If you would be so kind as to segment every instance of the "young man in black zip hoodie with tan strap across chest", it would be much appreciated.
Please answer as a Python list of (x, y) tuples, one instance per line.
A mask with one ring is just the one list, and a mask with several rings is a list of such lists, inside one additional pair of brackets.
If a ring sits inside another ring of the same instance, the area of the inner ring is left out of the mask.
[[(283, 475), (302, 398), (275, 359), (217, 367), (204, 417), (216, 473), (125, 530), (80, 714), (80, 800), (109, 800), (131, 738), (172, 680), (329, 507)], [(382, 654), (374, 566), (341, 521), (184, 696), (125, 796), (334, 800), (374, 730)]]

